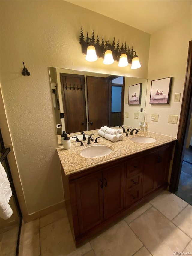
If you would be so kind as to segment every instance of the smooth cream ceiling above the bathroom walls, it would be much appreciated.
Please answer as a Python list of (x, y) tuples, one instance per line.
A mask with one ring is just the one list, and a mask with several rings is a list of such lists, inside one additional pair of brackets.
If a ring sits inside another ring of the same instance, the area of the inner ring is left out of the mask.
[(191, 0), (71, 0), (149, 34), (191, 15)]

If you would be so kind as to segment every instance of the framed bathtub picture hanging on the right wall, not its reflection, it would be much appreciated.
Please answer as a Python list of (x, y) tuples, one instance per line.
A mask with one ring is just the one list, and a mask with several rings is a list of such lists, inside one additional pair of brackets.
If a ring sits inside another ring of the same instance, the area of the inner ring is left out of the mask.
[(151, 82), (150, 104), (169, 104), (173, 77), (166, 77)]

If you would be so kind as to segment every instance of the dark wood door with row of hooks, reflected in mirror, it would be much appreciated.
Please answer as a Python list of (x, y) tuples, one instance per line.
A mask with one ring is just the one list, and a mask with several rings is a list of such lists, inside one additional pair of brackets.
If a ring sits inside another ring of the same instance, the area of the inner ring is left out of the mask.
[(66, 131), (86, 131), (85, 78), (60, 73), (60, 79)]

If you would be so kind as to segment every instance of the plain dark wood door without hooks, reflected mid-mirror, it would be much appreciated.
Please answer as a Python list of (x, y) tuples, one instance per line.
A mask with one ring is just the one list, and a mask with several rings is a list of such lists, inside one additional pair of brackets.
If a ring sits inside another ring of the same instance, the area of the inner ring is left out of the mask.
[(87, 76), (89, 130), (109, 126), (109, 81)]

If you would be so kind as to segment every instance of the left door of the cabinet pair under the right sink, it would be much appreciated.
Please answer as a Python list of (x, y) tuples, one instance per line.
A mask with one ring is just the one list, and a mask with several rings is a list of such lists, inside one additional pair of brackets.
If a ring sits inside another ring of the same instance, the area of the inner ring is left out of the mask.
[(155, 169), (158, 162), (158, 152), (155, 151), (144, 158), (143, 197), (155, 189)]

